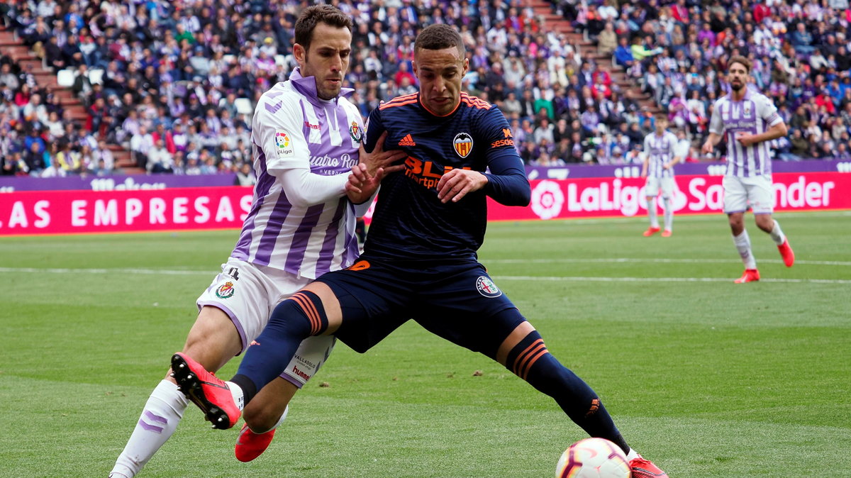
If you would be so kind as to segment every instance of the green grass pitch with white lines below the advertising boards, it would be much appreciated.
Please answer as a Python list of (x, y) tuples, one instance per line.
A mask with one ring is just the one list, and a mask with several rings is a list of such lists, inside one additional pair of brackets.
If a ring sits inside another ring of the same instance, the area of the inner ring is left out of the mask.
[[(671, 476), (849, 476), (851, 213), (777, 218), (797, 264), (748, 214), (763, 280), (745, 285), (720, 214), (677, 217), (665, 239), (643, 218), (491, 224), (480, 257)], [(107, 475), (236, 239), (0, 239), (0, 476)], [(236, 436), (190, 407), (140, 476), (540, 478), (585, 437), (412, 323), (365, 355), (338, 346), (254, 462), (233, 458)]]

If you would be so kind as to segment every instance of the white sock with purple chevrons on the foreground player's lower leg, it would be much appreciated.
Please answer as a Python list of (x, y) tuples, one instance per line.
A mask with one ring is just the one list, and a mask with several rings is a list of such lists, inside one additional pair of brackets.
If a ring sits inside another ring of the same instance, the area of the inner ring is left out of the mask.
[(174, 433), (188, 403), (176, 384), (165, 379), (160, 381), (142, 409), (133, 435), (118, 456), (110, 476), (131, 478), (139, 473)]

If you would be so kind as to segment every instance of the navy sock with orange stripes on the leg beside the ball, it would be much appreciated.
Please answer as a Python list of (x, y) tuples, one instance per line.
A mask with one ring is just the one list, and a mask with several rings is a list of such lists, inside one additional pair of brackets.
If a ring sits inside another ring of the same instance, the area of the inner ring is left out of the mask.
[(537, 331), (529, 333), (511, 350), (505, 364), (535, 390), (550, 395), (588, 435), (614, 441), (625, 453), (630, 451), (594, 390), (546, 350)]

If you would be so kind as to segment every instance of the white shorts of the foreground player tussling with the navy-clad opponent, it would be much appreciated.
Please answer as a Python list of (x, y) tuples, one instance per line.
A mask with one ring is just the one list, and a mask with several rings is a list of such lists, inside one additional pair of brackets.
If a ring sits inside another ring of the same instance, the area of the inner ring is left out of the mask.
[[(197, 306), (201, 310), (204, 305), (212, 305), (231, 317), (244, 351), (266, 327), (275, 306), (311, 281), (231, 257), (221, 265), (221, 274), (215, 276), (213, 283), (197, 299)], [(305, 339), (281, 378), (301, 388), (328, 360), (335, 342), (333, 335)]]

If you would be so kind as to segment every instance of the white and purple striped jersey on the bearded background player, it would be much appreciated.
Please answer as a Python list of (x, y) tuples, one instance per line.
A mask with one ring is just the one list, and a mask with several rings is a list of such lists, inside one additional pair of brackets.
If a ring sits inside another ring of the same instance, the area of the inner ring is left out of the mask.
[(743, 178), (771, 174), (769, 141), (745, 147), (735, 137), (738, 133), (765, 133), (768, 128), (782, 121), (771, 100), (750, 88), (741, 101), (734, 101), (732, 94), (717, 100), (712, 109), (709, 132), (727, 135), (726, 175)]

